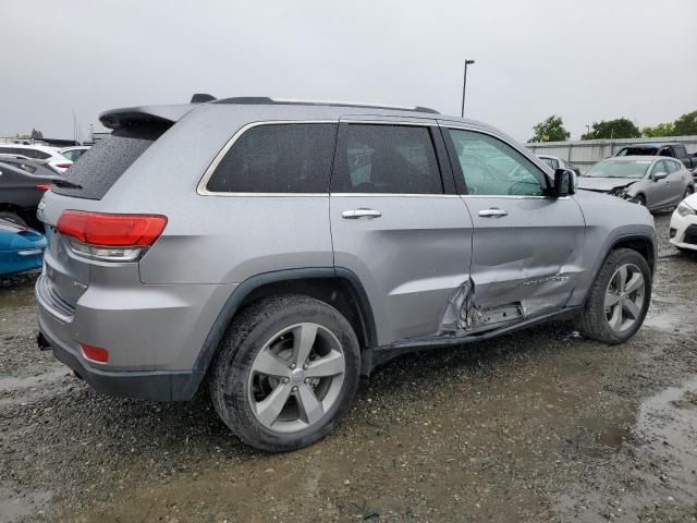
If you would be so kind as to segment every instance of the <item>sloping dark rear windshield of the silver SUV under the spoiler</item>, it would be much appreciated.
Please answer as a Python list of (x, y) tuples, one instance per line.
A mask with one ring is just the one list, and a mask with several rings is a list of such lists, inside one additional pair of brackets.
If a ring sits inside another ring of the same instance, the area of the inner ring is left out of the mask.
[(65, 171), (65, 179), (77, 187), (53, 187), (57, 194), (78, 198), (101, 199), (121, 174), (159, 138), (169, 124), (137, 124), (120, 129), (100, 139), (80, 161)]

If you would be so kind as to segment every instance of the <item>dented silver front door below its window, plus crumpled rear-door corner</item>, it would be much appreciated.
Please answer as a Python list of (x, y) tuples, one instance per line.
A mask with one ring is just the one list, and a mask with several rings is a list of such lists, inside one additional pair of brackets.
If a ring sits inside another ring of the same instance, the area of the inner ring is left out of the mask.
[[(560, 309), (584, 272), (585, 221), (573, 198), (463, 196), (474, 223), (470, 278), (440, 332), (467, 333)], [(500, 208), (508, 216), (482, 217)]]

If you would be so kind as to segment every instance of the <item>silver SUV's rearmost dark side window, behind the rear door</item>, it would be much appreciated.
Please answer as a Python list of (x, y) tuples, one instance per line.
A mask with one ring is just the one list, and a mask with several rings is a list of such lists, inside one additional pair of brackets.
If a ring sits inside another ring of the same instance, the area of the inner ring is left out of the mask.
[(206, 188), (217, 193), (327, 193), (333, 123), (257, 125), (232, 145)]

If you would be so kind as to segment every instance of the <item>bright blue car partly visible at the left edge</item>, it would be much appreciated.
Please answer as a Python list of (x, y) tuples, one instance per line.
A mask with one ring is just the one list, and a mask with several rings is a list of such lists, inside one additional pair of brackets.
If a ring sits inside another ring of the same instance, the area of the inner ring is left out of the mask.
[(41, 268), (45, 248), (40, 232), (0, 219), (0, 276)]

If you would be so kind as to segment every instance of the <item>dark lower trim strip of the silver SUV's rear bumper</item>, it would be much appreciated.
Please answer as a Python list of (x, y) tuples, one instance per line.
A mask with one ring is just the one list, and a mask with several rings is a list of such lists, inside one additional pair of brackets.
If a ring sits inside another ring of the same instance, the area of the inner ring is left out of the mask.
[(53, 356), (103, 394), (151, 401), (185, 401), (193, 398), (203, 379), (203, 373), (196, 372), (109, 372), (93, 368), (83, 362), (80, 354), (52, 338), (40, 319), (39, 328)]

